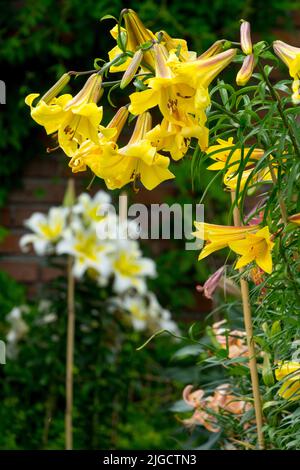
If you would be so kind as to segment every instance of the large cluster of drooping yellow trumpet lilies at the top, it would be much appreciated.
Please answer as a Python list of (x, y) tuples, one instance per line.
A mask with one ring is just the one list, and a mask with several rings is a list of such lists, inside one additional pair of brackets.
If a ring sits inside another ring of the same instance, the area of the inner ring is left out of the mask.
[[(57, 137), (73, 172), (90, 168), (109, 189), (130, 182), (136, 186), (140, 181), (151, 190), (174, 178), (168, 169), (170, 158), (181, 159), (192, 138), (202, 150), (207, 148), (208, 87), (237, 50), (226, 50), (224, 41), (217, 41), (197, 57), (184, 40), (146, 29), (134, 11), (123, 10), (121, 16), (125, 27), (117, 25), (111, 31), (117, 46), (108, 54), (110, 61), (95, 70), (74, 97), (60, 94), (75, 74), (69, 72), (41, 98), (36, 93), (28, 95), (26, 103), (32, 118), (47, 134)], [(103, 107), (98, 102), (108, 71), (125, 71), (120, 87), (135, 79), (137, 91), (129, 95), (129, 106), (119, 109), (104, 126)], [(149, 110), (155, 107), (161, 121), (153, 127)], [(136, 120), (134, 130), (127, 144), (120, 145), (119, 136), (129, 116)]]

